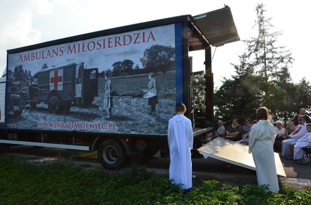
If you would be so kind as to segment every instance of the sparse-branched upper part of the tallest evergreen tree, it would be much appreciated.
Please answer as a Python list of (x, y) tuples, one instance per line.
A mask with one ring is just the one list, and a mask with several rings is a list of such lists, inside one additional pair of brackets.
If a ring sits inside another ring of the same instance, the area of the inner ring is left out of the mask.
[[(247, 56), (254, 65), (255, 71), (265, 77), (265, 81), (285, 79), (291, 81), (288, 67), (293, 63), (292, 53), (285, 46), (276, 46), (277, 37), (282, 32), (272, 32), (271, 17), (265, 16), (265, 5), (257, 4), (257, 19), (254, 27), (258, 27), (258, 36), (245, 40), (248, 46)], [(253, 28), (254, 28), (253, 27)]]

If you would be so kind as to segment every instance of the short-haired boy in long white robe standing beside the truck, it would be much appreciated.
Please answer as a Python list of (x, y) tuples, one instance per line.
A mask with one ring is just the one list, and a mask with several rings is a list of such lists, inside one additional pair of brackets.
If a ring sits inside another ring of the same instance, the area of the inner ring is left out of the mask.
[(168, 142), (170, 148), (170, 180), (181, 184), (182, 189), (192, 187), (191, 152), (193, 148), (193, 131), (190, 119), (184, 116), (186, 106), (177, 103), (176, 115), (169, 120)]

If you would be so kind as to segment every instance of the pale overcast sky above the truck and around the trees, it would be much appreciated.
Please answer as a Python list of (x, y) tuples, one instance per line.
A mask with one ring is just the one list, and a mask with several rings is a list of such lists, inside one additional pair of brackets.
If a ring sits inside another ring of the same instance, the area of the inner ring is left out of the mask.
[[(255, 7), (266, 5), (266, 16), (272, 17), (275, 31), (283, 31), (281, 46), (291, 49), (295, 59), (290, 72), (294, 82), (307, 75), (309, 70), (309, 21), (311, 1), (286, 2), (283, 0), (0, 0), (0, 73), (6, 66), (6, 50), (41, 42), (65, 38), (88, 32), (151, 21), (180, 15), (199, 15), (228, 5), (241, 40), (256, 36), (252, 29)], [(239, 63), (238, 55), (245, 49), (242, 42), (212, 49), (212, 69), (216, 86), (222, 77), (229, 77), (234, 68), (229, 63)], [(194, 70), (203, 70), (201, 61), (194, 57)], [(306, 73), (306, 74), (304, 74)]]

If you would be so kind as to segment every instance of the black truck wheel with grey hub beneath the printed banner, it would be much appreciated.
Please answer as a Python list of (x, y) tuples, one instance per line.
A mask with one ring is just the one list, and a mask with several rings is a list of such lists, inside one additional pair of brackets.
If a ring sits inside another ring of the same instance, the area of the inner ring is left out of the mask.
[(112, 139), (102, 142), (98, 148), (97, 155), (99, 163), (109, 170), (121, 169), (127, 159), (123, 144)]

